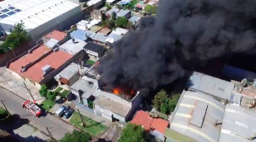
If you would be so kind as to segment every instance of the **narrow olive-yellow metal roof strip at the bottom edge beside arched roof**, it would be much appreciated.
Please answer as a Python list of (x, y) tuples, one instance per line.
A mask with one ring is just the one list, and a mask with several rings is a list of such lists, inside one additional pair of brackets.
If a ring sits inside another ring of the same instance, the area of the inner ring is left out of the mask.
[(170, 128), (166, 128), (164, 136), (167, 139), (172, 139), (175, 142), (197, 142), (195, 139), (190, 138), (189, 136), (178, 133)]

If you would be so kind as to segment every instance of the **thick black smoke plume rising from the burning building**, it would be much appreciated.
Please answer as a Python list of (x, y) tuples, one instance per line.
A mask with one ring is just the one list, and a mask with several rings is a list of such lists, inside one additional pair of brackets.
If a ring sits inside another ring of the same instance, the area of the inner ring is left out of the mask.
[(256, 0), (160, 0), (156, 17), (141, 20), (100, 60), (111, 87), (156, 88), (216, 57), (254, 54)]

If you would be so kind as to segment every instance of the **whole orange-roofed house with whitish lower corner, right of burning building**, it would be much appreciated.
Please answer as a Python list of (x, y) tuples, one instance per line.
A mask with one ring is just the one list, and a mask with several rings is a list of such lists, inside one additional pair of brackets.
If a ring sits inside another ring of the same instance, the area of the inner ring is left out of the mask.
[(148, 112), (137, 111), (131, 120), (131, 124), (142, 125), (145, 131), (151, 133), (159, 139), (164, 139), (164, 132), (169, 127), (169, 122), (165, 119), (151, 116)]

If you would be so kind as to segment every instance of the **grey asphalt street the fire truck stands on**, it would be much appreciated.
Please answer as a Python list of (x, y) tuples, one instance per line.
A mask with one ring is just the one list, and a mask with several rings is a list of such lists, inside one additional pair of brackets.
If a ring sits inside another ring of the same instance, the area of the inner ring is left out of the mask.
[[(0, 99), (4, 101), (11, 114), (18, 114), (20, 118), (28, 119), (29, 124), (39, 131), (48, 134), (46, 127), (50, 128), (49, 130), (55, 139), (61, 139), (65, 133), (72, 133), (74, 130), (73, 125), (63, 122), (56, 116), (49, 114), (40, 118), (33, 116), (29, 111), (22, 108), (23, 99), (3, 88), (0, 88)], [(0, 106), (3, 107), (2, 103), (0, 103)]]

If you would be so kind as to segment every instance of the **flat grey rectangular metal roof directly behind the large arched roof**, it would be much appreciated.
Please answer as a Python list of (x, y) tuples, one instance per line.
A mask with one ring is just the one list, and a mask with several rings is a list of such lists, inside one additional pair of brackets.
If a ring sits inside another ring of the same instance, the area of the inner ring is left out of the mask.
[(189, 88), (224, 100), (230, 97), (235, 87), (235, 84), (232, 82), (227, 82), (198, 72), (193, 72), (189, 80), (187, 84)]

